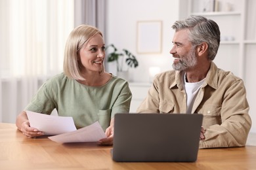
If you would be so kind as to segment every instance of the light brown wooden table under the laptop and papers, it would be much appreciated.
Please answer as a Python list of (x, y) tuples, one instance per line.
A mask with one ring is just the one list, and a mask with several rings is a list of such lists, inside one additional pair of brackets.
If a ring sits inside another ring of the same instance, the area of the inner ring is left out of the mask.
[(28, 139), (0, 123), (0, 169), (256, 169), (256, 146), (201, 149), (194, 163), (112, 161), (112, 146)]

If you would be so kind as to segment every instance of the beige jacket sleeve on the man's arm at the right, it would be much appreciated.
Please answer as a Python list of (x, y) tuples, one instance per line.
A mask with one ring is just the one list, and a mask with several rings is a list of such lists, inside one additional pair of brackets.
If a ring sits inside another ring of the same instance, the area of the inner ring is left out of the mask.
[(200, 141), (200, 148), (245, 146), (251, 128), (248, 112), (244, 83), (238, 80), (223, 95), (221, 124), (206, 128), (205, 139)]

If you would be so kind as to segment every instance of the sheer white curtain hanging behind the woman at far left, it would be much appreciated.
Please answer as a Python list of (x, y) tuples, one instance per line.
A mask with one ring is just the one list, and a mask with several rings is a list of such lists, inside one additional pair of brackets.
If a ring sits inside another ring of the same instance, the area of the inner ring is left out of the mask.
[(62, 72), (72, 29), (72, 0), (0, 0), (0, 122), (15, 122), (39, 86)]

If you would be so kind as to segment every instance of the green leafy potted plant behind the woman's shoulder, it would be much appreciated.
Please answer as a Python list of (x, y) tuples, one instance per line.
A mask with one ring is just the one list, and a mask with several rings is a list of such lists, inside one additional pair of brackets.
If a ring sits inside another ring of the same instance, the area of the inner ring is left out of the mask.
[[(117, 50), (116, 46), (114, 44), (110, 44), (106, 47), (106, 50), (110, 50), (109, 48), (112, 48), (112, 51), (108, 53), (108, 62), (116, 62), (116, 70), (117, 70), (117, 76), (121, 76), (122, 78), (129, 79), (128, 76), (128, 70), (129, 67), (138, 67), (139, 62), (136, 59), (136, 57), (129, 52), (129, 50), (123, 49), (121, 52)], [(124, 66), (124, 64), (127, 64), (127, 67)], [(126, 70), (124, 68), (127, 68)]]

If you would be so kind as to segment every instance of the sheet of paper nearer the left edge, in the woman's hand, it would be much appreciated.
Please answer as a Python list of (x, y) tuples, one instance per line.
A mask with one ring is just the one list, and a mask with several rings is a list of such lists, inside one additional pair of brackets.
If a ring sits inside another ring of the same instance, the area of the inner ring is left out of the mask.
[(72, 117), (52, 116), (26, 110), (30, 126), (43, 131), (45, 135), (58, 135), (75, 131), (76, 127)]

